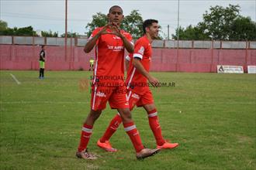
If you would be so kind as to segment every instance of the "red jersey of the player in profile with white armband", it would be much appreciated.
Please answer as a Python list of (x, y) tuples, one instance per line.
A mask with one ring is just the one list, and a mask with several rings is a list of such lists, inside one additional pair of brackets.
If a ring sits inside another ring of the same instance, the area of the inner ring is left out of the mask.
[(138, 94), (144, 93), (144, 90), (148, 90), (147, 78), (133, 66), (133, 59), (140, 59), (140, 63), (144, 66), (144, 69), (149, 72), (151, 56), (152, 47), (150, 41), (147, 39), (147, 36), (143, 36), (135, 43), (134, 53), (130, 54), (130, 64), (126, 79), (127, 89), (133, 90)]

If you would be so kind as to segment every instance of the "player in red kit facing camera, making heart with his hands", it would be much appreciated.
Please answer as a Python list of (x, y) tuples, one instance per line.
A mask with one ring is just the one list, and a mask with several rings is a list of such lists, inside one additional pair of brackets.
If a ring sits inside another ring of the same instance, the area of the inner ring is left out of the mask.
[(91, 111), (86, 118), (81, 140), (76, 156), (84, 159), (97, 158), (88, 152), (87, 145), (92, 135), (92, 127), (99, 118), (102, 110), (109, 101), (112, 109), (117, 109), (123, 120), (123, 127), (129, 135), (136, 150), (138, 159), (147, 158), (159, 151), (159, 148), (149, 149), (142, 145), (140, 134), (131, 118), (128, 100), (126, 100), (126, 87), (124, 86), (124, 49), (133, 53), (132, 37), (128, 32), (119, 29), (123, 20), (123, 9), (117, 5), (109, 9), (109, 24), (92, 32), (85, 53), (89, 53), (95, 46), (95, 70), (92, 80)]

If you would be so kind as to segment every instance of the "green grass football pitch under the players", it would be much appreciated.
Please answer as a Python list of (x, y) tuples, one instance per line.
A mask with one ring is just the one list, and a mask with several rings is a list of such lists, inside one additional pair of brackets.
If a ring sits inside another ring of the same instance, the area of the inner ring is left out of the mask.
[[(20, 84), (10, 75), (16, 76)], [(175, 87), (152, 89), (164, 138), (180, 143), (137, 161), (123, 126), (112, 137), (116, 153), (95, 144), (116, 110), (95, 123), (90, 151), (95, 161), (74, 156), (89, 111), (89, 72), (1, 71), (0, 169), (255, 169), (256, 76), (216, 73), (152, 73)], [(80, 84), (80, 85), (79, 85)], [(155, 148), (147, 114), (133, 119), (148, 148)]]

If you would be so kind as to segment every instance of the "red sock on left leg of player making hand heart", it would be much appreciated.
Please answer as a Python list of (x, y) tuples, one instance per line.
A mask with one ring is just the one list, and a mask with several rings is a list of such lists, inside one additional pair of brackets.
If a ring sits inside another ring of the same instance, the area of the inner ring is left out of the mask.
[(78, 146), (78, 151), (83, 151), (87, 148), (88, 142), (92, 135), (92, 126), (84, 124), (83, 128), (81, 129), (81, 138), (80, 144)]

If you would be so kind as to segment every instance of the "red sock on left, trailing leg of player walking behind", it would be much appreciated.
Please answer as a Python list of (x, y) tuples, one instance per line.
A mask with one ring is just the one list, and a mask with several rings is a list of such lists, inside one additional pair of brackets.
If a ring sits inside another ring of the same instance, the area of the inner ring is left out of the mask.
[(116, 114), (116, 116), (112, 119), (112, 121), (109, 124), (109, 127), (106, 129), (105, 133), (103, 134), (102, 138), (100, 138), (100, 142), (109, 141), (109, 138), (112, 137), (112, 134), (114, 134), (119, 128), (119, 124), (122, 123), (122, 117), (120, 117), (119, 114)]

